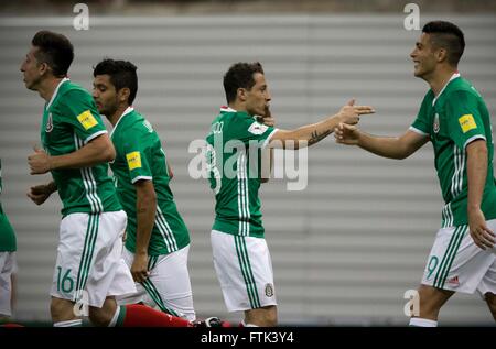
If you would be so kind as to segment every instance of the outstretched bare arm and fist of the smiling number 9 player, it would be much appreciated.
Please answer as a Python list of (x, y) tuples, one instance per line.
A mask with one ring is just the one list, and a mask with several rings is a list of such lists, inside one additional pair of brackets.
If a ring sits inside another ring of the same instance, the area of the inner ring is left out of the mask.
[(398, 160), (410, 156), (429, 141), (428, 135), (411, 130), (407, 130), (400, 137), (377, 137), (345, 123), (339, 123), (334, 132), (337, 143), (358, 145), (376, 155)]

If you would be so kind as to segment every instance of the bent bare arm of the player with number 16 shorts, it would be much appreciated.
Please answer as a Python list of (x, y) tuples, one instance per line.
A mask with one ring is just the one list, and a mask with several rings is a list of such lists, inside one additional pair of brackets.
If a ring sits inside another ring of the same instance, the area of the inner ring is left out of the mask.
[(82, 149), (64, 155), (51, 156), (44, 150), (34, 148), (28, 156), (31, 174), (43, 174), (51, 170), (90, 167), (112, 161), (116, 150), (107, 133), (89, 141)]

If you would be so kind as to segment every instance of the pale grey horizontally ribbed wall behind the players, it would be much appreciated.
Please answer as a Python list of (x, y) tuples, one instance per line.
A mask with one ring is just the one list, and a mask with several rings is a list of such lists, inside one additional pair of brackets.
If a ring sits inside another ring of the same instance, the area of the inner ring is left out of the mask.
[[(0, 157), (2, 205), (18, 237), (15, 317), (48, 321), (60, 200), (36, 207), (25, 196), (48, 176), (29, 175), (26, 156), (40, 142), (43, 101), (19, 72), (41, 29), (75, 46), (71, 78), (90, 89), (104, 57), (138, 66), (134, 107), (162, 138), (175, 177), (172, 190), (191, 231), (190, 271), (198, 317), (225, 310), (212, 262), (213, 195), (187, 173), (192, 140), (204, 139), (225, 103), (222, 77), (231, 63), (260, 61), (280, 128), (334, 113), (349, 98), (373, 105), (362, 128), (398, 134), (427, 91), (409, 54), (419, 31), (407, 31), (410, 1), (86, 1), (89, 30), (73, 28), (76, 1), (4, 1), (0, 6)], [(495, 1), (417, 1), (421, 26), (451, 20), (466, 34), (460, 65), (496, 113)], [(495, 119), (493, 118), (493, 123)], [(430, 145), (402, 162), (384, 160), (330, 138), (309, 151), (309, 184), (262, 186), (281, 325), (403, 326), (407, 290), (419, 284), (435, 231), (441, 195)], [(477, 295), (456, 295), (441, 325), (492, 325)]]

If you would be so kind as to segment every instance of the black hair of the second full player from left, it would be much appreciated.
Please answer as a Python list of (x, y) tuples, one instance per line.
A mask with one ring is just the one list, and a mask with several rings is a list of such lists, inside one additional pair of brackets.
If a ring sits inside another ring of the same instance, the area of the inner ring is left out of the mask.
[(93, 76), (109, 75), (110, 83), (116, 87), (116, 91), (121, 88), (129, 88), (128, 103), (132, 105), (138, 92), (138, 75), (136, 70), (138, 68), (131, 62), (128, 61), (115, 61), (105, 58), (96, 65), (93, 70)]

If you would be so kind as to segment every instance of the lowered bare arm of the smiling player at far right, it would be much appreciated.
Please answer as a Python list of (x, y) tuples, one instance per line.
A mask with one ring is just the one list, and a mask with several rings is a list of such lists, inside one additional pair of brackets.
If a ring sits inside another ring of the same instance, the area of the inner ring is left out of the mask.
[(487, 176), (487, 145), (483, 139), (466, 146), (466, 172), (468, 179), (468, 227), (476, 246), (485, 250), (496, 242), (495, 233), (487, 228), (486, 218), (481, 210), (481, 201)]

